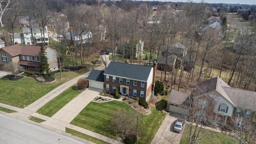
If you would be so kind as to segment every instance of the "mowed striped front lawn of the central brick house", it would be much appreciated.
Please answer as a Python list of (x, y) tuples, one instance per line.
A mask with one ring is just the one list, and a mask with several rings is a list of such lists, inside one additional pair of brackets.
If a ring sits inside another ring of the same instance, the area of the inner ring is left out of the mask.
[(137, 144), (150, 143), (166, 116), (159, 110), (156, 110), (156, 108), (151, 108), (151, 114), (139, 114), (124, 102), (90, 102), (70, 124), (116, 139), (121, 137), (121, 134), (116, 134), (110, 128), (110, 116), (116, 110), (132, 110), (139, 116), (138, 129), (144, 133), (141, 134)]

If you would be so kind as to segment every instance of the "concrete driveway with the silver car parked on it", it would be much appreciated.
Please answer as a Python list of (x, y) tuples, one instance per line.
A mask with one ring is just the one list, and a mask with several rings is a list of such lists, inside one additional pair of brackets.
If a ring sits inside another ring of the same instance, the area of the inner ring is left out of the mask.
[(183, 131), (180, 133), (173, 131), (174, 124), (179, 117), (179, 114), (168, 112), (151, 144), (179, 144)]

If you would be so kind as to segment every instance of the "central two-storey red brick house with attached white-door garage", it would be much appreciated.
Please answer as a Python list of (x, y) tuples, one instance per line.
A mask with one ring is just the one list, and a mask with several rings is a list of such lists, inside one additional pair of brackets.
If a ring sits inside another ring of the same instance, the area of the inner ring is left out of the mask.
[(118, 88), (118, 93), (122, 96), (148, 101), (154, 94), (155, 75), (156, 63), (152, 68), (111, 61), (105, 72), (93, 70), (87, 80), (89, 87), (103, 88), (109, 93), (114, 93), (115, 88)]

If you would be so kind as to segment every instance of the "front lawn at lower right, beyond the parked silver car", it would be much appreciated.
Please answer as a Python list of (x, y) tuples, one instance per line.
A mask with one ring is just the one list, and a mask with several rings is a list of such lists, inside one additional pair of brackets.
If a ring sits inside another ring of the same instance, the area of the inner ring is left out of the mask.
[[(194, 126), (193, 126), (194, 128)], [(187, 144), (189, 136), (189, 124), (186, 124), (180, 144)], [(196, 144), (238, 144), (238, 140), (226, 134), (220, 132), (214, 132), (212, 130), (202, 130), (202, 134), (198, 137)]]

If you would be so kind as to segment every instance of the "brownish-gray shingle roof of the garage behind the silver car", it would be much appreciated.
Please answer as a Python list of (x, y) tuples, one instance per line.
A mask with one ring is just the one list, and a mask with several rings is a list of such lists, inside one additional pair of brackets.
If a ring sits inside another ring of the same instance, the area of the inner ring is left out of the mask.
[(188, 100), (189, 96), (189, 93), (172, 90), (168, 98), (168, 103), (186, 105), (186, 100)]

